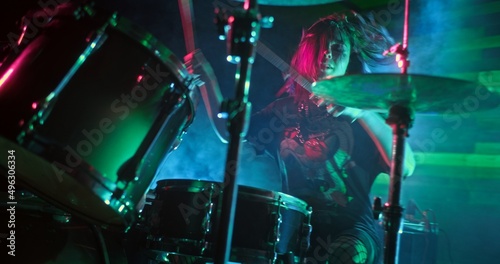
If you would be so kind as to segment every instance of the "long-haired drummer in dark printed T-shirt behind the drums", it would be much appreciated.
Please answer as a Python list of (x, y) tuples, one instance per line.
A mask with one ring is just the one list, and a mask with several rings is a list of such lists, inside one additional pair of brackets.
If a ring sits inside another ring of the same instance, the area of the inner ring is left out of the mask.
[[(257, 152), (275, 154), (284, 164), (284, 191), (313, 208), (306, 263), (382, 259), (369, 193), (377, 175), (389, 171), (391, 129), (377, 113), (325, 103), (307, 86), (366, 73), (384, 63), (382, 54), (392, 44), (383, 27), (354, 12), (319, 19), (303, 32), (291, 60), (293, 70), (280, 90), (288, 96), (251, 119), (249, 142)], [(403, 164), (403, 176), (411, 175), (415, 161), (408, 146)]]

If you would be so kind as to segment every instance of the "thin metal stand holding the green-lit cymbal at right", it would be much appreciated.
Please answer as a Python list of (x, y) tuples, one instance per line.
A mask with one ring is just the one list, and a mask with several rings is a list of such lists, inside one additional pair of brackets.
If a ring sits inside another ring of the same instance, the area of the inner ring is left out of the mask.
[[(401, 79), (399, 92), (409, 87), (408, 76), (408, 25), (409, 25), (409, 0), (405, 3), (405, 17), (403, 28), (403, 44), (396, 44), (389, 50), (396, 54), (398, 67), (401, 68)], [(396, 93), (398, 90), (395, 91)], [(403, 207), (400, 204), (401, 182), (403, 174), (405, 138), (408, 137), (408, 130), (413, 125), (414, 113), (411, 108), (411, 100), (393, 102), (389, 109), (386, 123), (392, 128), (392, 159), (389, 181), (389, 201), (384, 205), (384, 264), (398, 263), (399, 252), (399, 231), (403, 216)]]

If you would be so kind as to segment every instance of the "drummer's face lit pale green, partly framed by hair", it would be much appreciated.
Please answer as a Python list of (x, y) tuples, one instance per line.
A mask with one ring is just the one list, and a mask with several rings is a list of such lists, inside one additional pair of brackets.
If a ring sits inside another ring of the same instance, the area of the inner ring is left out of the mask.
[(346, 73), (351, 43), (349, 38), (338, 36), (330, 41), (326, 51), (323, 52), (323, 68), (319, 79), (329, 79), (342, 76)]

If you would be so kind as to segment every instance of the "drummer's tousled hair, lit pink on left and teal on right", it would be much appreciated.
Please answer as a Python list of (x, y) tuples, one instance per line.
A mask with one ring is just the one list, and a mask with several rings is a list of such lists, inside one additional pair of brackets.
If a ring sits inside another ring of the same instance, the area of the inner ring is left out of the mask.
[(367, 73), (370, 67), (392, 61), (383, 53), (394, 41), (388, 31), (375, 22), (373, 16), (363, 17), (353, 11), (331, 14), (303, 31), (291, 60), (289, 78), (280, 91), (293, 95), (295, 101), (308, 97), (306, 85), (320, 76), (324, 52), (328, 50), (330, 41), (339, 36), (341, 39), (348, 38), (351, 43), (347, 74)]

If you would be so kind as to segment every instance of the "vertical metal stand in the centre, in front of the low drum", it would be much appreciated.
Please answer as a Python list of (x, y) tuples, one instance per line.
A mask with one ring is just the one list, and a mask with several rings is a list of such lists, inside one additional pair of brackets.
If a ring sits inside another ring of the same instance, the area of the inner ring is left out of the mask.
[(257, 0), (245, 0), (244, 9), (228, 19), (228, 61), (237, 63), (236, 93), (225, 100), (221, 114), (228, 120), (229, 146), (224, 170), (221, 214), (215, 243), (215, 264), (229, 262), (238, 187), (236, 185), (241, 138), (245, 137), (251, 104), (248, 102), (250, 72), (255, 59), (255, 47), (260, 32)]

